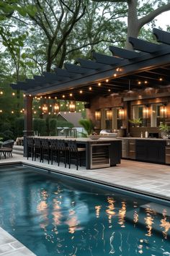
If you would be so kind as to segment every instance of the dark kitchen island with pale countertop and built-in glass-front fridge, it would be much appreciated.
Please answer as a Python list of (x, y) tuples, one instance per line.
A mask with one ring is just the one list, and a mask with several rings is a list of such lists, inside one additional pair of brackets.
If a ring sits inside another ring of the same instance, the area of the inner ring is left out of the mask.
[(122, 140), (102, 137), (98, 140), (91, 140), (88, 137), (63, 136), (40, 136), (36, 138), (48, 139), (49, 142), (50, 140), (65, 140), (66, 142), (76, 140), (78, 147), (86, 149), (84, 155), (86, 169), (116, 166), (121, 161)]

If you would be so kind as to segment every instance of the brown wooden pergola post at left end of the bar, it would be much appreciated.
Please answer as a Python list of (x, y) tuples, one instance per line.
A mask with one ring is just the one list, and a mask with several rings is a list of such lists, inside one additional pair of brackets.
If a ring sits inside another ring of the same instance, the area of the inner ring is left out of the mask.
[(27, 156), (27, 136), (34, 135), (32, 130), (32, 100), (33, 97), (26, 95), (24, 98), (24, 156)]

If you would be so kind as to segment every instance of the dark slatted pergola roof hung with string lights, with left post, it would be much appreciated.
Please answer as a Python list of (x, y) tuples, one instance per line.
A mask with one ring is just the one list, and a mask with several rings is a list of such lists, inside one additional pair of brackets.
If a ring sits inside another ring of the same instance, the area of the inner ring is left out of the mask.
[[(112, 56), (94, 52), (94, 61), (78, 59), (79, 65), (45, 72), (42, 76), (12, 84), (25, 97), (25, 135), (32, 131), (32, 97), (50, 96), (90, 102), (98, 95), (170, 85), (170, 33), (153, 28), (158, 43), (129, 38), (134, 51), (109, 46)], [(164, 79), (163, 79), (164, 77)]]

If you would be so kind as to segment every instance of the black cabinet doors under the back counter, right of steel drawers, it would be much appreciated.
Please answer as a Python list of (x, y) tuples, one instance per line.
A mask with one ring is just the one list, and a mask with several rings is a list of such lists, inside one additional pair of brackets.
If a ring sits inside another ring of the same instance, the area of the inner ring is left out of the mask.
[(136, 140), (136, 160), (165, 163), (166, 141)]

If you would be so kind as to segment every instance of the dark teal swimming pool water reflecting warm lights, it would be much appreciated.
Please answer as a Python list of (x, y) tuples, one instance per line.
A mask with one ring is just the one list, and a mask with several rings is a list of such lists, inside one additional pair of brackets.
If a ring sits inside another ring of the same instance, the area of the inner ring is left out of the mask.
[(169, 202), (29, 166), (0, 171), (0, 226), (35, 255), (170, 255)]

